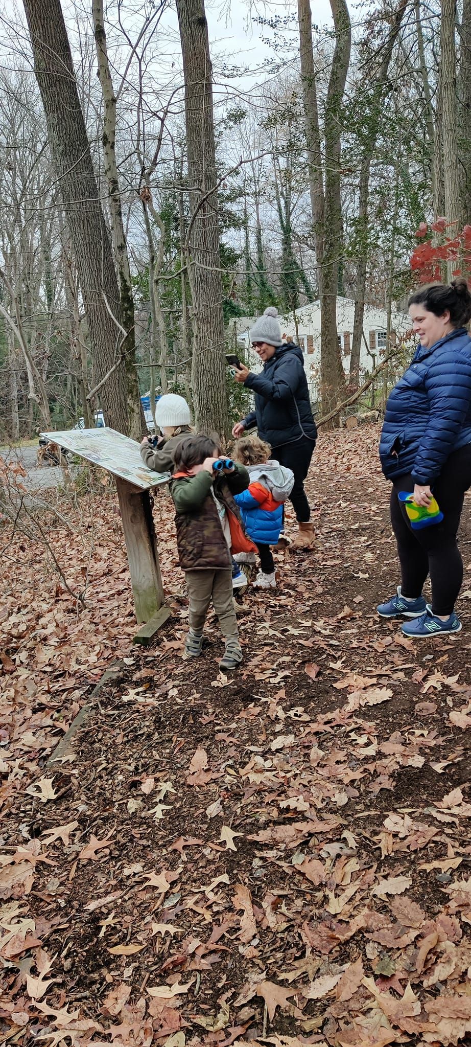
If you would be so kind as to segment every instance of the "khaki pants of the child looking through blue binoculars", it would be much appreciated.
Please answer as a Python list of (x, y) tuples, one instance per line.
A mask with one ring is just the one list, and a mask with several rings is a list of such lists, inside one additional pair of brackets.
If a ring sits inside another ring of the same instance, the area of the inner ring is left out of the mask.
[(233, 608), (232, 572), (230, 567), (221, 570), (185, 571), (186, 588), (189, 596), (189, 627), (201, 633), (209, 604), (219, 619), (226, 643), (238, 640), (238, 620)]

